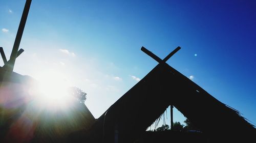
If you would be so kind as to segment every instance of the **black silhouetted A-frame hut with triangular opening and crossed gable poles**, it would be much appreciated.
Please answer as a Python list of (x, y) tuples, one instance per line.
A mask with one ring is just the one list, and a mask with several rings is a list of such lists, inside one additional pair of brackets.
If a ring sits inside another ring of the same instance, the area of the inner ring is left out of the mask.
[(77, 142), (134, 142), (169, 105), (174, 105), (200, 128), (209, 142), (248, 142), (255, 137), (255, 128), (237, 110), (167, 65), (169, 55), (161, 60), (147, 53), (159, 64), (106, 110), (90, 132), (72, 139)]

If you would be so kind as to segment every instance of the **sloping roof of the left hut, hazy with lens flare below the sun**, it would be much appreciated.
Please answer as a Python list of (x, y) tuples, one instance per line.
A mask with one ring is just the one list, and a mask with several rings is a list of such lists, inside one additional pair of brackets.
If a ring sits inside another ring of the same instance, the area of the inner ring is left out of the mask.
[[(4, 74), (0, 67), (0, 77)], [(87, 131), (95, 122), (87, 106), (75, 99), (65, 110), (37, 106), (32, 77), (13, 72), (0, 84), (0, 142), (66, 142), (70, 133)]]

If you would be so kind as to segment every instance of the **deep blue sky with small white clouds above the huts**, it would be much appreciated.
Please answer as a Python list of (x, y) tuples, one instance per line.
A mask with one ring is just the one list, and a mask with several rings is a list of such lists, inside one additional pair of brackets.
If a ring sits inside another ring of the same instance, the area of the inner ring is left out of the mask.
[[(7, 57), (24, 5), (1, 1)], [(180, 46), (167, 63), (255, 125), (255, 7), (255, 1), (32, 1), (20, 43), (25, 53), (14, 71), (38, 80), (60, 75), (88, 93), (97, 118), (157, 65), (141, 46), (162, 59)]]

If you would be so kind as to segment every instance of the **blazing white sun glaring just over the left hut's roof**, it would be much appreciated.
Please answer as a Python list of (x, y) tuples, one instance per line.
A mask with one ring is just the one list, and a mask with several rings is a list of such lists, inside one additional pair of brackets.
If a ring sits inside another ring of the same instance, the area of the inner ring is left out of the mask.
[(65, 108), (71, 104), (73, 97), (69, 94), (66, 76), (56, 71), (44, 71), (37, 75), (39, 81), (36, 99), (44, 108)]

